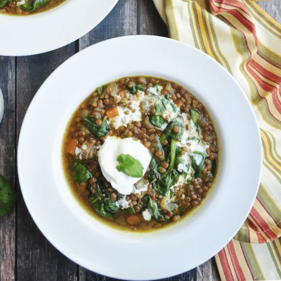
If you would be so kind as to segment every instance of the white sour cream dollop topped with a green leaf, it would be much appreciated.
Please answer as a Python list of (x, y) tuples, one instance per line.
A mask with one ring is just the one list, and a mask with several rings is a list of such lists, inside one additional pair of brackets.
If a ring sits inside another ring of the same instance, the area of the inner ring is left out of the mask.
[(103, 176), (120, 194), (129, 195), (133, 191), (133, 184), (141, 177), (130, 177), (116, 169), (116, 166), (119, 165), (116, 158), (120, 154), (130, 154), (137, 159), (144, 167), (143, 176), (149, 166), (151, 154), (139, 140), (135, 140), (132, 137), (122, 139), (108, 136), (101, 146), (98, 157)]

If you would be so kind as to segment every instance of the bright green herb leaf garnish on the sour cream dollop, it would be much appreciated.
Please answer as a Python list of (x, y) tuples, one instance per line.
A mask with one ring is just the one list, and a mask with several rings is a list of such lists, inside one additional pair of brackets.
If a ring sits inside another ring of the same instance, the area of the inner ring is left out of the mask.
[(124, 174), (133, 178), (140, 178), (143, 176), (144, 167), (130, 154), (118, 155), (117, 161), (119, 162), (119, 165), (116, 166), (116, 169), (119, 172), (123, 172)]

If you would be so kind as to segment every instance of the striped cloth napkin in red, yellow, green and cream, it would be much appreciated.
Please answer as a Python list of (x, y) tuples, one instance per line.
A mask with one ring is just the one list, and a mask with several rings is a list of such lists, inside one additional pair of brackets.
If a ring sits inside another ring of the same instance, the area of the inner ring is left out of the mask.
[(216, 255), (220, 277), (279, 280), (281, 25), (252, 0), (153, 1), (171, 38), (205, 52), (235, 77), (260, 125), (264, 158), (259, 193), (239, 232)]

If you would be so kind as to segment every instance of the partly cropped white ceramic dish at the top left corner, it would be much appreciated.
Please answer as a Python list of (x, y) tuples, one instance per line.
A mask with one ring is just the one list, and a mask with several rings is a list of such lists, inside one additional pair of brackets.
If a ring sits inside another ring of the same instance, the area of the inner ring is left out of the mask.
[(0, 55), (26, 56), (58, 49), (96, 27), (118, 0), (66, 0), (29, 16), (0, 13)]

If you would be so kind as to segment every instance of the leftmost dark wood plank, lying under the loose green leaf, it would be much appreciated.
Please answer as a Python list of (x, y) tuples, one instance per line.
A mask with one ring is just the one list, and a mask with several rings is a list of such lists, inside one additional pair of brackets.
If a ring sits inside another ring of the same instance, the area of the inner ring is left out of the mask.
[[(0, 124), (0, 174), (15, 186), (15, 59), (0, 57), (0, 87), (5, 111)], [(15, 276), (15, 209), (0, 218), (0, 280)]]

